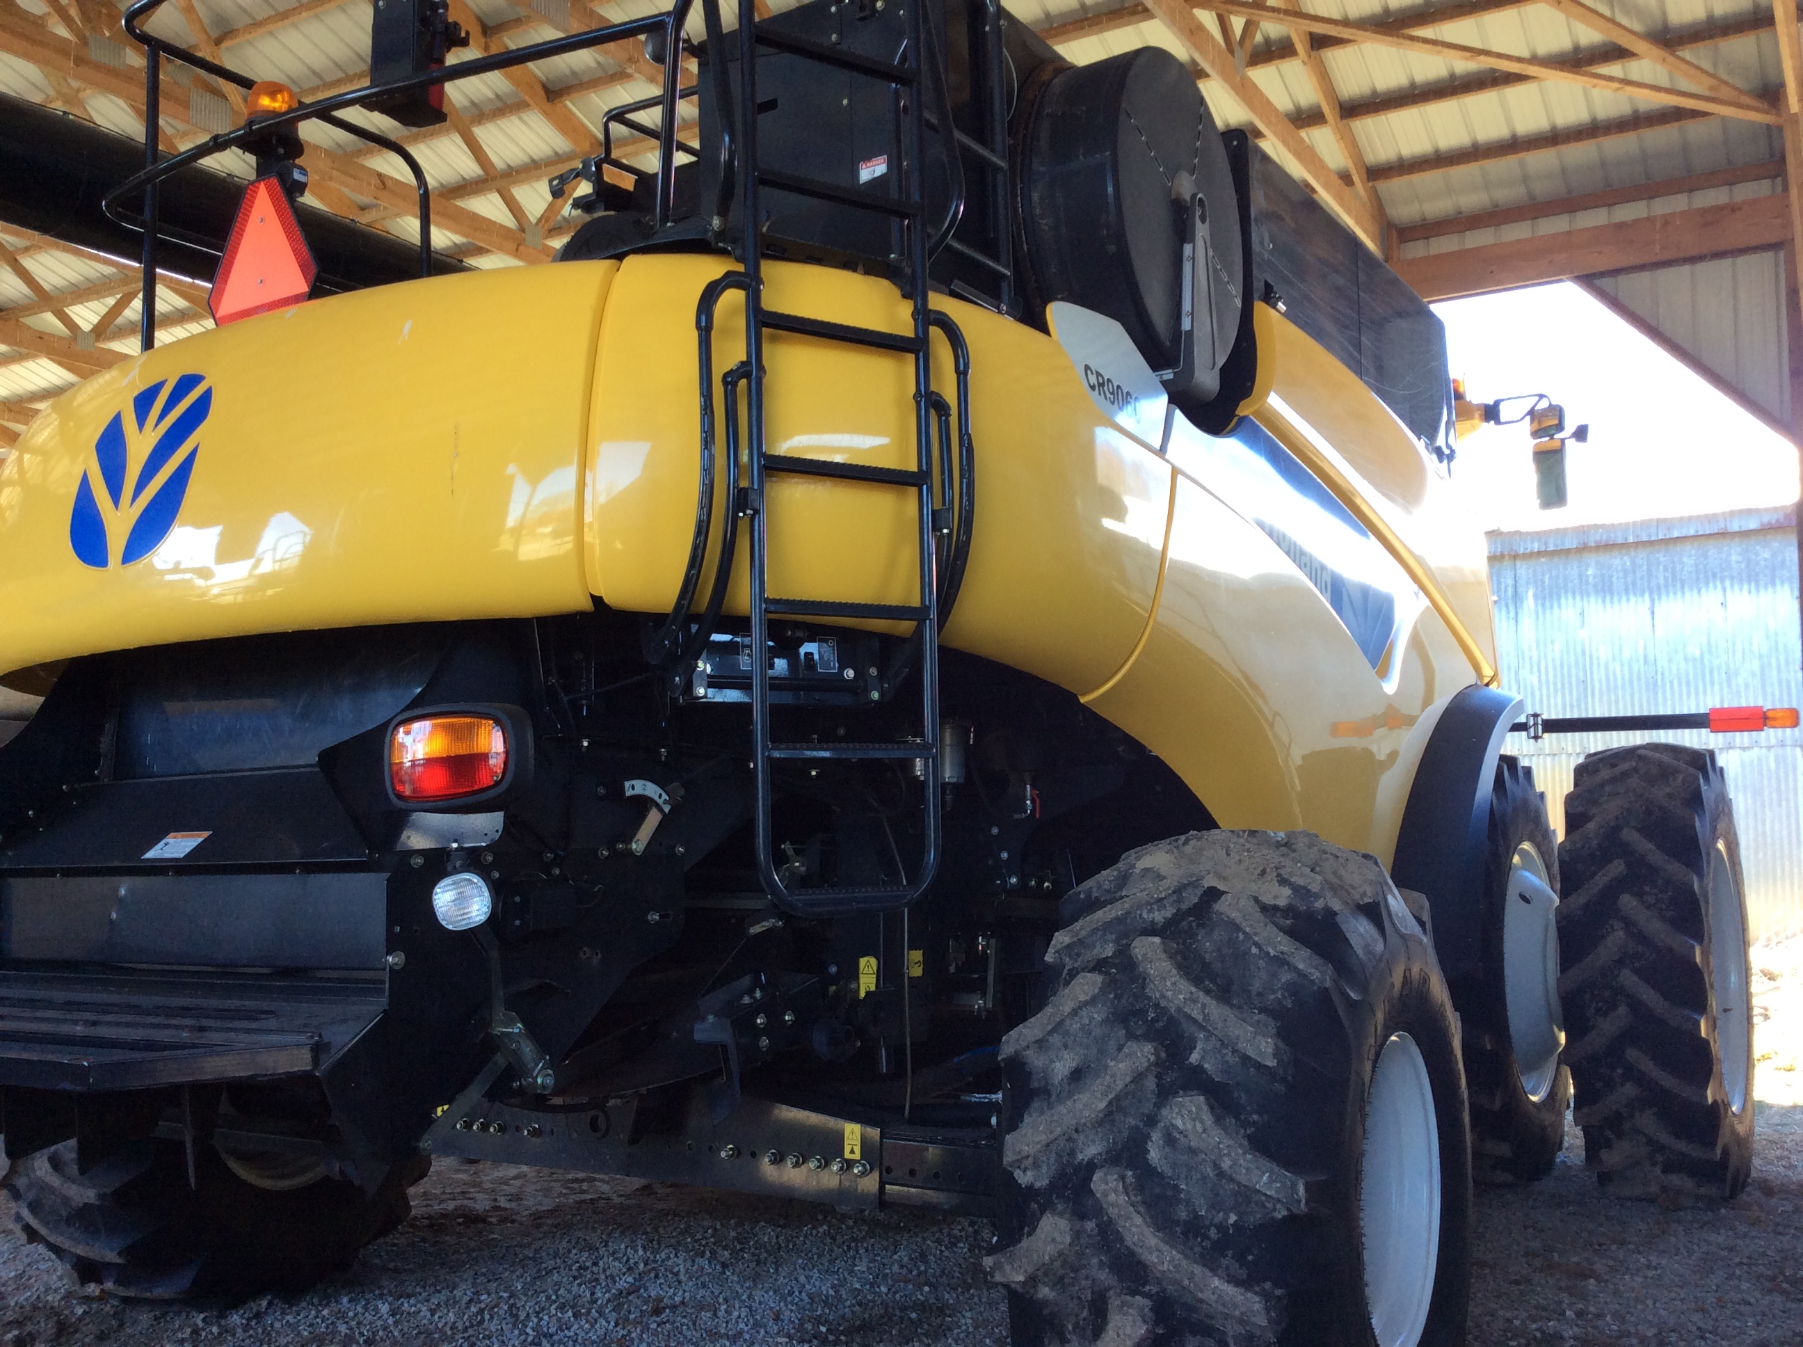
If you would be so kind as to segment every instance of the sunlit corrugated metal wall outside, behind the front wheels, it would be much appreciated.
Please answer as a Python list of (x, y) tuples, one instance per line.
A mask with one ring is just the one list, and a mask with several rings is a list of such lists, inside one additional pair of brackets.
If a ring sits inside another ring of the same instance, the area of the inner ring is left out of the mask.
[[(1796, 512), (1491, 534), (1504, 687), (1545, 716), (1803, 705)], [(1565, 831), (1572, 768), (1644, 734), (1511, 734)], [(1753, 938), (1803, 930), (1803, 730), (1661, 739), (1715, 748), (1734, 797)]]

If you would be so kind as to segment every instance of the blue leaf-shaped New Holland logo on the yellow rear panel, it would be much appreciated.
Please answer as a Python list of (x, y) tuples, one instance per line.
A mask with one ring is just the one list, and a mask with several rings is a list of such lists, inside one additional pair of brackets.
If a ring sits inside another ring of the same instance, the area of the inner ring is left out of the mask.
[(213, 388), (206, 375), (159, 379), (128, 411), (115, 411), (94, 442), (69, 514), (69, 546), (96, 570), (142, 561), (175, 528)]

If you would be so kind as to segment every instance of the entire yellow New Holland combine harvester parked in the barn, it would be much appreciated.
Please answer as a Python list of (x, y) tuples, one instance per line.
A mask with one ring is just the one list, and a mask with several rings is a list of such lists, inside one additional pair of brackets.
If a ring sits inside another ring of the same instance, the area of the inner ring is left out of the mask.
[(0, 463), (27, 1237), (292, 1287), (465, 1156), (988, 1214), (1022, 1343), (1390, 1347), (1462, 1340), (1563, 1060), (1606, 1183), (1733, 1196), (1720, 772), (1599, 756), (1556, 846), (1426, 307), (1163, 50), (689, 18), (445, 69), (379, 7), (375, 87), (108, 198), (667, 61), (559, 265), (150, 348)]

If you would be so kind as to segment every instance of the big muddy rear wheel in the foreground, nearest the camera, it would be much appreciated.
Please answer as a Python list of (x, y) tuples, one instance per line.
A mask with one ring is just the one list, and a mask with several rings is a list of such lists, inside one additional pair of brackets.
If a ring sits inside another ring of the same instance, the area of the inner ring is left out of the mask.
[(1002, 1040), (1015, 1343), (1464, 1342), (1455, 1015), (1377, 862), (1190, 833), (1066, 921)]

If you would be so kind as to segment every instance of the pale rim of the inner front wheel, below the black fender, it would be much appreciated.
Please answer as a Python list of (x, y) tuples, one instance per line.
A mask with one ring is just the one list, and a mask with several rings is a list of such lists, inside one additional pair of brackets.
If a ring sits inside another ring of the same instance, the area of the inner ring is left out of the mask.
[(1565, 1048), (1560, 930), (1552, 918), (1558, 905), (1547, 884), (1547, 862), (1531, 842), (1522, 842), (1509, 858), (1509, 889), (1502, 900), (1502, 986), (1515, 1069), (1534, 1104), (1552, 1093)]

